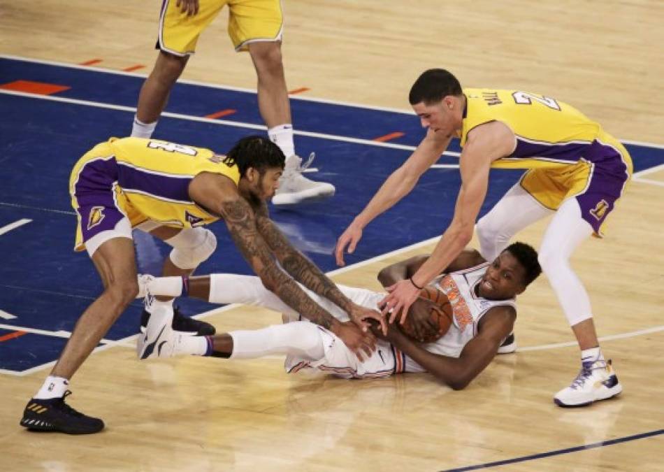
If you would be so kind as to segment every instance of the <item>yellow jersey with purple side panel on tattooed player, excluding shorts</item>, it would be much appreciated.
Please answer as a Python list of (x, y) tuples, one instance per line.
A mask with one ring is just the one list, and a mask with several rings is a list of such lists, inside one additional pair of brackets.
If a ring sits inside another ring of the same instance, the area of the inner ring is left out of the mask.
[(209, 149), (143, 138), (111, 138), (101, 144), (106, 145), (117, 164), (116, 195), (127, 213), (168, 226), (196, 227), (219, 219), (189, 197), (189, 183), (197, 174), (219, 173), (236, 185), (240, 180), (238, 166)]

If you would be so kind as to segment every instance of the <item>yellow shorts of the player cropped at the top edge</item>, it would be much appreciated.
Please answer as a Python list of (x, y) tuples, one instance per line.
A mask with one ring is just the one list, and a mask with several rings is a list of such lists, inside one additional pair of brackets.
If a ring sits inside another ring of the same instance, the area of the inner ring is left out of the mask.
[(250, 43), (281, 41), (283, 12), (280, 0), (200, 0), (199, 13), (187, 16), (177, 0), (164, 0), (159, 17), (157, 48), (173, 55), (194, 54), (196, 43), (219, 11), (229, 6), (228, 32), (236, 51)]

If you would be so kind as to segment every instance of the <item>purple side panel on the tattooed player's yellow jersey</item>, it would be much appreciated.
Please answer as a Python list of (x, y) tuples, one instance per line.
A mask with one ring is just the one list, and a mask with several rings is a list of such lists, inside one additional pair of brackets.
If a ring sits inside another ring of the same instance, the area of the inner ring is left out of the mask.
[(124, 162), (117, 163), (117, 183), (131, 194), (132, 191), (150, 194), (157, 199), (168, 199), (180, 203), (193, 203), (189, 196), (189, 183), (192, 176), (168, 176), (133, 167)]

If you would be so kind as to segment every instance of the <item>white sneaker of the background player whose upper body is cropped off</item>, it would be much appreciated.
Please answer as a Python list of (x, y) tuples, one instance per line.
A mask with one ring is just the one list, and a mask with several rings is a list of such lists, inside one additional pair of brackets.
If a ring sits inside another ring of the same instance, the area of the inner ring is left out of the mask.
[(334, 185), (326, 182), (316, 182), (302, 175), (302, 172), (316, 157), (311, 153), (307, 162), (302, 164), (302, 158), (292, 155), (286, 159), (286, 167), (279, 181), (279, 188), (272, 203), (275, 205), (296, 205), (305, 200), (324, 199), (334, 194)]

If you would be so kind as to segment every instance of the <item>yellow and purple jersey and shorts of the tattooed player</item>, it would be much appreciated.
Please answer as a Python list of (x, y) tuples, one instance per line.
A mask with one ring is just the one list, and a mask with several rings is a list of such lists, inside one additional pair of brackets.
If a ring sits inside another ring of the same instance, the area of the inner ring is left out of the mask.
[(124, 217), (131, 227), (150, 220), (192, 228), (219, 219), (189, 197), (189, 183), (201, 172), (219, 173), (238, 185), (238, 166), (209, 149), (143, 138), (110, 138), (75, 164), (69, 179), (78, 215), (75, 250)]

